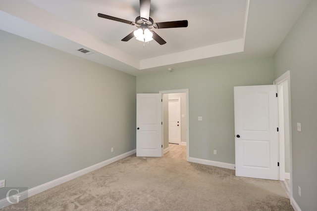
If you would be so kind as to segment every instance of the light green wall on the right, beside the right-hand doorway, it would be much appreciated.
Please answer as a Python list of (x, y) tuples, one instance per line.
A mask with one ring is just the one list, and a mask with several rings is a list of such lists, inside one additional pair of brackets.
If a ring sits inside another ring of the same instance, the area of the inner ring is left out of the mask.
[(274, 78), (290, 70), (293, 197), (302, 211), (317, 210), (316, 20), (317, 0), (311, 0), (273, 57)]

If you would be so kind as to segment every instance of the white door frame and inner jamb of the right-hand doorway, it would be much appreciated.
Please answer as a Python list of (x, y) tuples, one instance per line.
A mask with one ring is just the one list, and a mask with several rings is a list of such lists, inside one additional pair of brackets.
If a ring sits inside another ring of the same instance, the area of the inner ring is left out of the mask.
[[(279, 115), (279, 119), (278, 119), (278, 122), (279, 123), (282, 123), (283, 126), (288, 124), (289, 126), (289, 142), (290, 142), (290, 190), (289, 190), (289, 194), (290, 194), (290, 198), (293, 197), (293, 169), (292, 169), (292, 158), (293, 158), (293, 155), (292, 155), (292, 125), (291, 125), (291, 81), (290, 81), (290, 71), (286, 71), (283, 75), (281, 75), (280, 77), (278, 77), (274, 82), (273, 84), (276, 84), (277, 86), (281, 85), (283, 82), (287, 81), (287, 87), (283, 87), (283, 88), (287, 88), (288, 90), (288, 116), (289, 116), (289, 121), (288, 122), (284, 122), (284, 118), (282, 119), (282, 115)], [(280, 88), (277, 89), (277, 94), (278, 96), (283, 96), (281, 93), (279, 93)], [(285, 101), (283, 101), (285, 103)], [(279, 110), (281, 109), (280, 108), (280, 104), (278, 105), (279, 106)], [(284, 129), (284, 127), (282, 128)], [(280, 132), (284, 132), (284, 131), (280, 131)], [(282, 137), (283, 138), (283, 137)], [(283, 140), (279, 140), (280, 142), (280, 147), (279, 147), (279, 156), (280, 156), (280, 160), (285, 160), (285, 146), (284, 146), (284, 139)], [(282, 157), (282, 158), (281, 158)], [(284, 168), (280, 168), (280, 180), (281, 178), (283, 179), (284, 177), (284, 173), (285, 173), (285, 164), (283, 165)], [(283, 171), (283, 172), (282, 172)], [(281, 177), (282, 175), (282, 177)], [(285, 178), (285, 177), (284, 177)]]

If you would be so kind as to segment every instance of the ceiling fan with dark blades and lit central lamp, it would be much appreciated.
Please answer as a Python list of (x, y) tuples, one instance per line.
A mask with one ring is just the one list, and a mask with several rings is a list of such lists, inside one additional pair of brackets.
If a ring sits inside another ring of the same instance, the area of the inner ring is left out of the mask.
[(124, 20), (121, 18), (112, 17), (102, 13), (98, 13), (98, 17), (136, 26), (138, 28), (137, 30), (131, 32), (129, 35), (127, 35), (125, 38), (121, 40), (124, 42), (127, 42), (131, 40), (133, 37), (136, 37), (137, 40), (142, 42), (149, 42), (149, 41), (155, 40), (159, 44), (165, 44), (166, 42), (161, 37), (159, 37), (157, 33), (155, 33), (152, 30), (153, 28), (166, 29), (166, 28), (179, 28), (179, 27), (188, 26), (187, 20), (155, 23), (154, 20), (150, 17), (150, 7), (151, 7), (151, 0), (140, 0), (140, 16), (136, 17), (135, 22)]

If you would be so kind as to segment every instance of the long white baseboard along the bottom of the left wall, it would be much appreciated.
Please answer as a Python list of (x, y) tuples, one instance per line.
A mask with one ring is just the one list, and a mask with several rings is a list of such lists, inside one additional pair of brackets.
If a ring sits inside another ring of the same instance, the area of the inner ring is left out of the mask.
[[(87, 167), (85, 169), (81, 169), (81, 170), (78, 170), (76, 172), (70, 173), (68, 175), (62, 176), (60, 178), (54, 179), (54, 180), (52, 180), (50, 182), (44, 183), (44, 184), (39, 185), (37, 187), (30, 188), (27, 191), (23, 191), (21, 193), (16, 194), (15, 197), (18, 196), (19, 197), (19, 201), (21, 201), (23, 199), (26, 199), (28, 197), (34, 196), (34, 195), (36, 195), (38, 193), (41, 193), (43, 191), (49, 190), (49, 189), (51, 189), (51, 188), (53, 188), (53, 187), (55, 187), (57, 185), (60, 185), (60, 184), (62, 184), (64, 182), (67, 182), (67, 181), (75, 179), (75, 178), (77, 178), (79, 176), (82, 176), (82, 175), (84, 175), (86, 173), (89, 173), (89, 172), (94, 171), (96, 169), (100, 169), (102, 167), (105, 167), (105, 166), (107, 166), (109, 164), (112, 164), (112, 163), (114, 163), (116, 161), (119, 161), (119, 160), (121, 160), (123, 158), (126, 158), (126, 157), (128, 157), (130, 155), (133, 155), (135, 153), (136, 153), (135, 149), (131, 150), (129, 152), (123, 153), (123, 154), (118, 155), (118, 156), (116, 156), (114, 158), (110, 158), (110, 159), (108, 159), (106, 161), (103, 161), (101, 163), (95, 164), (95, 165)], [(16, 201), (13, 198), (13, 196), (9, 197), (9, 200), (7, 200), (6, 198), (5, 199), (1, 199), (0, 200), (0, 209), (11, 205), (12, 203), (10, 203), (10, 202), (12, 202), (12, 201), (13, 202)]]

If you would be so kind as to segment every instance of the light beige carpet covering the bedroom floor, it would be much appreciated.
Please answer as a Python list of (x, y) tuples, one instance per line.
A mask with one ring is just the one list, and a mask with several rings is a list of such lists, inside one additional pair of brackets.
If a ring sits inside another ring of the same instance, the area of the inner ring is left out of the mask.
[[(279, 181), (234, 170), (135, 155), (4, 210), (293, 211)], [(1, 210), (1, 211), (2, 211)]]

